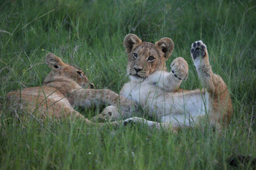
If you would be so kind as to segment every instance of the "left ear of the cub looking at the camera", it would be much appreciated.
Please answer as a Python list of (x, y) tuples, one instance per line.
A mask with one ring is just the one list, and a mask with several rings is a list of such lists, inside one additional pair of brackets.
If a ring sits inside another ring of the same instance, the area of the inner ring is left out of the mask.
[(137, 35), (128, 34), (124, 38), (124, 47), (127, 53), (132, 51), (133, 47), (137, 47), (142, 44), (142, 40), (140, 40)]

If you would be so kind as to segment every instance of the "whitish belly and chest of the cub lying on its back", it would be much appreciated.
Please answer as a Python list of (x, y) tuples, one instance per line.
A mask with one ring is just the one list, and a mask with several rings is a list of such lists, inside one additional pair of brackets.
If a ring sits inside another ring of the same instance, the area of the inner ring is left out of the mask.
[(210, 111), (208, 93), (199, 90), (171, 93), (154, 84), (130, 81), (124, 84), (121, 95), (137, 101), (149, 116), (161, 122), (188, 126)]

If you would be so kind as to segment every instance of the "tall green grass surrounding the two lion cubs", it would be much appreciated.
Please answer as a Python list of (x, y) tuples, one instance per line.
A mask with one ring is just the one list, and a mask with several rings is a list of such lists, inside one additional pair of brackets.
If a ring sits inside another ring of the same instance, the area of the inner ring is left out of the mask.
[[(38, 86), (47, 52), (85, 70), (97, 89), (127, 81), (122, 40), (174, 40), (167, 62), (189, 64), (183, 89), (198, 88), (189, 48), (208, 45), (213, 72), (228, 84), (234, 115), (218, 135), (210, 128), (171, 132), (135, 126), (115, 130), (82, 122), (19, 122), (1, 104), (0, 169), (230, 169), (232, 154), (256, 157), (255, 1), (0, 1), (0, 96)], [(83, 111), (86, 117), (99, 109)], [(252, 169), (250, 166), (240, 166)]]

